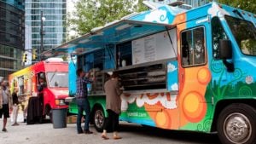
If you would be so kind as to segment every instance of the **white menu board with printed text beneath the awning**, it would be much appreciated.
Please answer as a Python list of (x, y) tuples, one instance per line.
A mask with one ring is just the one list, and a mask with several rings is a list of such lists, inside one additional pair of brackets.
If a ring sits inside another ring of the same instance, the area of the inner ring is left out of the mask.
[[(176, 37), (176, 34), (173, 36)], [(132, 65), (172, 58), (175, 56), (173, 48), (176, 49), (176, 46), (172, 46), (167, 32), (134, 40), (132, 41)]]

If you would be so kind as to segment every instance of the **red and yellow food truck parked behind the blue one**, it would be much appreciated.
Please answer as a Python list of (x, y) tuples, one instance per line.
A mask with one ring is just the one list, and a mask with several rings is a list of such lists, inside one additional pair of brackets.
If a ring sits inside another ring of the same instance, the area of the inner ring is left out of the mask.
[(32, 96), (41, 96), (42, 116), (49, 115), (51, 109), (67, 108), (68, 63), (61, 59), (50, 58), (28, 66), (9, 75), (11, 92), (18, 89), (18, 98), (26, 119), (28, 100)]

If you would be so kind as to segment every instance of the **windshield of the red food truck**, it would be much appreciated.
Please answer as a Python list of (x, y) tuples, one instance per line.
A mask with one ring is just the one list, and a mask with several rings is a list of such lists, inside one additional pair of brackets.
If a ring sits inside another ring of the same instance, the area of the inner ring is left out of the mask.
[(47, 72), (49, 87), (51, 88), (67, 88), (68, 73), (67, 72)]

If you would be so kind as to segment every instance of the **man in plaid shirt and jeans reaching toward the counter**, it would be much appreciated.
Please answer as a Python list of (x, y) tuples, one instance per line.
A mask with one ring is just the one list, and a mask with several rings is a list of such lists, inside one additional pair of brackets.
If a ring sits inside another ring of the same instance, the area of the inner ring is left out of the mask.
[[(88, 94), (88, 89), (87, 89), (87, 84), (92, 83), (92, 81), (90, 81), (89, 76), (90, 73), (87, 73), (87, 77), (85, 77), (86, 73), (83, 71), (83, 69), (78, 69), (77, 70), (77, 93), (76, 93), (76, 99), (77, 99), (77, 105), (79, 108), (79, 114), (78, 114), (78, 118), (77, 118), (77, 131), (78, 134), (92, 134), (93, 132), (91, 132), (89, 130), (89, 123), (90, 123), (90, 103), (88, 101), (87, 98), (87, 94)], [(82, 130), (81, 127), (81, 119), (83, 117), (83, 112), (86, 113), (85, 116), (85, 122), (84, 122), (84, 131)]]

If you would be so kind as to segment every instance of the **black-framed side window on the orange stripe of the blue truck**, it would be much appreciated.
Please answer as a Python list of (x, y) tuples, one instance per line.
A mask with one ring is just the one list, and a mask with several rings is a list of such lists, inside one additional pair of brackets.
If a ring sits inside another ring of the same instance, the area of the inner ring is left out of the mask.
[(182, 32), (182, 65), (199, 66), (206, 63), (204, 28)]

